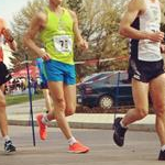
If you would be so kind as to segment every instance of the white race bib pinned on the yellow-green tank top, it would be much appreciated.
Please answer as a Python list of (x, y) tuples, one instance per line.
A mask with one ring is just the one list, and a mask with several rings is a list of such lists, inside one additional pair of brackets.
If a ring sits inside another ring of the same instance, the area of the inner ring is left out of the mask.
[(53, 37), (54, 46), (57, 52), (73, 52), (73, 38), (70, 35), (56, 35)]

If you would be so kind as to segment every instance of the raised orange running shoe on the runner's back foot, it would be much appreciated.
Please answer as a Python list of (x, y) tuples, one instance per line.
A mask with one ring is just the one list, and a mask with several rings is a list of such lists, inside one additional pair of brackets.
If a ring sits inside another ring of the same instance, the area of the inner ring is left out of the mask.
[(47, 138), (47, 132), (46, 132), (46, 125), (42, 122), (42, 118), (43, 114), (37, 114), (36, 116), (36, 121), (37, 121), (37, 125), (38, 125), (38, 133), (40, 133), (40, 138), (41, 140), (46, 140)]

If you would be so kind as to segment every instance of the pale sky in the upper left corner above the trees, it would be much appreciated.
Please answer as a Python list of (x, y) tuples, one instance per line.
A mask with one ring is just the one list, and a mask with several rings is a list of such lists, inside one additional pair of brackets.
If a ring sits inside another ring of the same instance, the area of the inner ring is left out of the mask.
[(10, 26), (12, 15), (25, 7), (28, 1), (30, 0), (0, 0), (0, 18), (3, 18)]

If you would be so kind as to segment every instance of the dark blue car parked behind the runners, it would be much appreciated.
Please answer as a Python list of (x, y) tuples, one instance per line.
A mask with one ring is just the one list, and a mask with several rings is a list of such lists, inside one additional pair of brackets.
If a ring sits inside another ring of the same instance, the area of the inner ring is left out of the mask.
[(128, 73), (103, 72), (88, 77), (77, 85), (77, 103), (103, 109), (121, 105), (133, 105)]

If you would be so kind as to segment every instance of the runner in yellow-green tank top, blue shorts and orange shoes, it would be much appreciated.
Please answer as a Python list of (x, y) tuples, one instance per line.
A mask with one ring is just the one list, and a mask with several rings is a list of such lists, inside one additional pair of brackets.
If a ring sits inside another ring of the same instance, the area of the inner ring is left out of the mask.
[[(68, 151), (86, 153), (89, 147), (73, 136), (66, 117), (76, 110), (74, 43), (81, 50), (87, 50), (88, 44), (79, 32), (76, 13), (63, 8), (62, 1), (48, 0), (46, 10), (34, 15), (24, 35), (24, 43), (45, 61), (48, 88), (55, 105), (47, 116), (36, 117), (41, 139), (46, 139), (46, 124), (56, 119), (68, 141)], [(40, 34), (46, 52), (34, 42), (36, 34)]]

